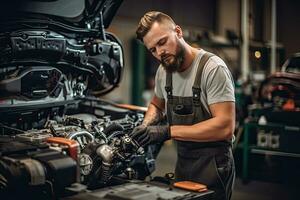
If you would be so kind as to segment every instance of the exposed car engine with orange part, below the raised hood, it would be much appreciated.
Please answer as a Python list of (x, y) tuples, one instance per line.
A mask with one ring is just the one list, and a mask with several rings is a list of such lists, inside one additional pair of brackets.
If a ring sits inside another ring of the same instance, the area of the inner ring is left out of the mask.
[(144, 149), (128, 135), (142, 122), (142, 111), (95, 98), (68, 107), (63, 115), (57, 111), (65, 107), (51, 107), (18, 120), (1, 114), (1, 192), (28, 192), (51, 182), (51, 191), (62, 194), (74, 183), (95, 189), (116, 184), (116, 177), (143, 180), (154, 171), (159, 148)]

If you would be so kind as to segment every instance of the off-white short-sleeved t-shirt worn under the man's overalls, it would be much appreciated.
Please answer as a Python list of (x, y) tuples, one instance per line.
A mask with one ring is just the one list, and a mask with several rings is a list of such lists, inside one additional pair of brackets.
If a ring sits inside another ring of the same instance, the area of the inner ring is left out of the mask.
[[(193, 96), (192, 87), (197, 74), (198, 64), (206, 51), (199, 50), (191, 66), (183, 72), (173, 73), (173, 96)], [(158, 98), (167, 100), (166, 71), (160, 65), (155, 76), (154, 92)], [(232, 75), (218, 56), (212, 56), (205, 64), (201, 79), (201, 102), (209, 111), (209, 105), (225, 101), (235, 102), (234, 81)]]

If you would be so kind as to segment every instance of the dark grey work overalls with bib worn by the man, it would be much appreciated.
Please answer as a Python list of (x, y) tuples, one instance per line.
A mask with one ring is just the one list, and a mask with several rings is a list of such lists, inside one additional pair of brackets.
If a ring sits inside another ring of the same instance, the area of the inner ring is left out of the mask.
[[(166, 75), (167, 118), (170, 125), (192, 125), (211, 118), (200, 101), (203, 67), (213, 54), (205, 53), (198, 65), (192, 97), (172, 94), (172, 73)], [(176, 181), (204, 183), (215, 191), (214, 199), (231, 198), (235, 169), (231, 141), (177, 142)]]

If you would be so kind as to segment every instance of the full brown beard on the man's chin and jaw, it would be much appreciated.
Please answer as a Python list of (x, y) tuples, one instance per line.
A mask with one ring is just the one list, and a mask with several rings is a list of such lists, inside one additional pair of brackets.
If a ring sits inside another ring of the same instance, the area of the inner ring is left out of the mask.
[(161, 64), (163, 68), (170, 73), (180, 70), (180, 67), (184, 61), (184, 48), (179, 43), (176, 54), (163, 54), (161, 56)]

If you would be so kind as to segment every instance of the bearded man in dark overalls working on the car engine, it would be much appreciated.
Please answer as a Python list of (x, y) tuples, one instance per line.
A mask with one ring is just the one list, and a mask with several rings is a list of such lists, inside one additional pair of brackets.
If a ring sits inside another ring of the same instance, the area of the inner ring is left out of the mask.
[[(215, 190), (215, 199), (230, 199), (235, 98), (226, 64), (187, 44), (180, 26), (164, 13), (146, 13), (136, 34), (161, 65), (145, 119), (131, 136), (142, 146), (176, 140), (176, 180), (204, 183)], [(165, 111), (168, 125), (157, 125)]]

